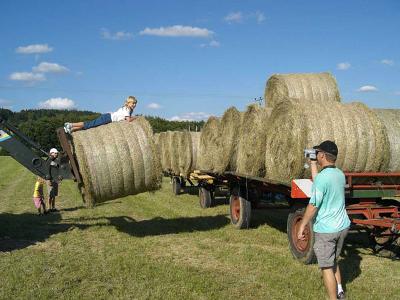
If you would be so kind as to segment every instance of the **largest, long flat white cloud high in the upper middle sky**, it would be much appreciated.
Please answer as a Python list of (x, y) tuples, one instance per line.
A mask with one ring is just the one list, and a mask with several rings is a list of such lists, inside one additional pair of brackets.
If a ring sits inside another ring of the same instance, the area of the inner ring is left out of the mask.
[(145, 28), (142, 30), (140, 35), (155, 35), (155, 36), (165, 36), (165, 37), (200, 37), (206, 38), (214, 34), (211, 30), (207, 28), (199, 28), (192, 26), (182, 26), (174, 25), (169, 27), (160, 28)]

